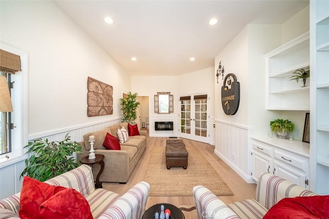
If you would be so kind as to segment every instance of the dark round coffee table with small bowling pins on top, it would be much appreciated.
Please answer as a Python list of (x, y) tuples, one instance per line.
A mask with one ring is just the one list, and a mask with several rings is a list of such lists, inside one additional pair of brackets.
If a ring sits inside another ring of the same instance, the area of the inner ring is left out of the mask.
[(161, 212), (161, 205), (165, 206), (165, 210), (169, 209), (171, 212), (171, 215), (169, 218), (171, 219), (185, 219), (185, 216), (183, 212), (176, 206), (168, 203), (160, 203), (151, 206), (148, 210), (146, 210), (142, 216), (143, 219), (153, 219), (155, 218), (155, 213), (158, 212), (160, 214)]

